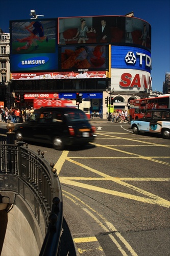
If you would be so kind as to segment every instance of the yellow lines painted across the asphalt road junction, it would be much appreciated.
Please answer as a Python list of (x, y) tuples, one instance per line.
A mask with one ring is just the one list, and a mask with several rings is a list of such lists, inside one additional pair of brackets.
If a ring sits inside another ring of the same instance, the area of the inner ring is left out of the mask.
[[(104, 135), (104, 136), (109, 136), (110, 137), (110, 135), (106, 135), (106, 134), (101, 134), (100, 133), (100, 135)], [(137, 141), (137, 140), (134, 140), (134, 139), (128, 139), (128, 138), (122, 138), (122, 137), (116, 137), (116, 136), (112, 136), (112, 138), (113, 139), (125, 139), (125, 140), (140, 142), (140, 143), (147, 144), (147, 145), (149, 144), (149, 146), (165, 146), (165, 147), (169, 147), (168, 145), (161, 145), (161, 144), (156, 144), (156, 143), (152, 143), (152, 142)], [(110, 157), (110, 159), (115, 159), (115, 158), (116, 159), (117, 158), (119, 158), (119, 159), (121, 159), (121, 158), (122, 159), (126, 159), (126, 158), (136, 158), (137, 159), (137, 158), (141, 158), (142, 159), (143, 158), (144, 160), (158, 162), (160, 164), (165, 164), (165, 165), (170, 166), (168, 163), (165, 163), (163, 161), (154, 159), (154, 158), (168, 158), (168, 157), (147, 157), (146, 158), (146, 157), (138, 155), (138, 154), (133, 154), (133, 153), (129, 153), (129, 152), (126, 152), (126, 151), (122, 151), (122, 150), (118, 150), (116, 148), (113, 148), (113, 146), (115, 146), (115, 145), (105, 146), (105, 145), (100, 145), (100, 144), (97, 144), (97, 143), (91, 143), (91, 144), (94, 144), (94, 145), (100, 146), (100, 147), (105, 147), (105, 148), (108, 148), (109, 150), (114, 150), (114, 151), (117, 151), (117, 152), (120, 152), (120, 153), (125, 153), (125, 154), (129, 155), (128, 157)], [(122, 145), (120, 145), (120, 146), (122, 146)], [(141, 146), (141, 145), (139, 145), (139, 146)], [(144, 146), (144, 145), (142, 145), (142, 146)], [(102, 172), (99, 172), (96, 169), (88, 167), (88, 166), (86, 166), (84, 164), (81, 164), (81, 163), (79, 163), (79, 162), (74, 160), (74, 159), (87, 159), (87, 157), (84, 157), (84, 158), (83, 157), (68, 157), (68, 153), (69, 153), (68, 151), (63, 151), (61, 157), (59, 158), (58, 162), (54, 166), (57, 169), (57, 174), (58, 175), (61, 172), (61, 168), (62, 168), (64, 162), (65, 161), (69, 161), (72, 164), (76, 164), (76, 165), (78, 165), (78, 166), (80, 166), (80, 167), (82, 167), (84, 169), (89, 170), (92, 173), (98, 174), (99, 176), (101, 176), (101, 178), (91, 178), (91, 177), (88, 177), (88, 178), (87, 177), (59, 177), (61, 183), (69, 184), (71, 186), (76, 186), (76, 187), (82, 187), (82, 188), (93, 190), (93, 191), (99, 191), (100, 193), (110, 194), (110, 195), (113, 195), (113, 196), (118, 196), (118, 197), (123, 197), (123, 198), (131, 199), (131, 200), (136, 200), (136, 201), (139, 201), (139, 202), (142, 202), (142, 203), (155, 204), (155, 205), (163, 206), (163, 207), (166, 207), (166, 208), (168, 208), (170, 206), (170, 202), (169, 201), (164, 200), (164, 199), (162, 199), (162, 198), (160, 198), (160, 197), (158, 197), (156, 195), (153, 195), (153, 194), (149, 193), (148, 191), (142, 190), (142, 189), (140, 189), (138, 187), (135, 187), (135, 186), (125, 182), (125, 181), (169, 182), (170, 178), (131, 178), (131, 177), (119, 178), (119, 177), (112, 177), (112, 176), (106, 175), (106, 174), (104, 174)], [(90, 157), (88, 157), (88, 159), (89, 158)], [(94, 158), (96, 158), (96, 159), (98, 159), (98, 158), (100, 158), (100, 159), (101, 158), (108, 159), (108, 157), (92, 157), (92, 158), (93, 159)], [(119, 191), (115, 191), (115, 190), (111, 190), (111, 189), (105, 189), (105, 188), (101, 188), (101, 187), (98, 187), (98, 186), (92, 186), (92, 185), (84, 184), (84, 183), (80, 182), (81, 180), (87, 180), (87, 181), (101, 180), (101, 181), (116, 182), (119, 185), (122, 185), (122, 186), (128, 187), (129, 189), (133, 189), (133, 190), (137, 191), (138, 193), (142, 194), (142, 197), (134, 196), (134, 195), (127, 194), (127, 193), (121, 193)], [(91, 218), (93, 218), (106, 232), (114, 232), (114, 235), (125, 245), (125, 247), (128, 249), (128, 251), (131, 252), (132, 255), (137, 255), (136, 252), (133, 250), (133, 248), (130, 246), (130, 244), (116, 230), (116, 228), (113, 226), (113, 224), (108, 222), (102, 215), (99, 214), (99, 212), (96, 212), (90, 206), (85, 204), (83, 201), (78, 199), (76, 196), (69, 194), (67, 191), (63, 191), (63, 196), (65, 196), (66, 198), (68, 198), (73, 203), (75, 203), (75, 204), (77, 204), (79, 206), (81, 206), (80, 203), (84, 204), (85, 207), (81, 207), (81, 208), (84, 211), (86, 211), (87, 214), (89, 214), (89, 216), (91, 216)], [(143, 196), (145, 196), (145, 197), (143, 197)], [(79, 203), (77, 201), (79, 201)], [(89, 208), (89, 210), (87, 208)], [(91, 211), (93, 211), (100, 218), (102, 218), (102, 220), (105, 221), (105, 225), (106, 226), (104, 225), (103, 221), (101, 222), (98, 218), (96, 218), (92, 214)], [(120, 246), (119, 242), (117, 242), (117, 240), (113, 237), (113, 235), (111, 233), (109, 234), (109, 237), (114, 242), (114, 244), (117, 246), (118, 250), (120, 252), (122, 252), (123, 255), (128, 255), (129, 254), (129, 253), (125, 252), (125, 250), (122, 248), (122, 246)], [(75, 243), (86, 243), (86, 242), (95, 242), (95, 241), (98, 241), (98, 240), (96, 239), (96, 237), (86, 237), (86, 238), (75, 238), (74, 241), (75, 241)], [(102, 247), (95, 248), (95, 249), (103, 250)], [(86, 249), (81, 249), (81, 248), (78, 248), (78, 250), (79, 250), (79, 253), (81, 253), (81, 254), (83, 252), (87, 251)]]

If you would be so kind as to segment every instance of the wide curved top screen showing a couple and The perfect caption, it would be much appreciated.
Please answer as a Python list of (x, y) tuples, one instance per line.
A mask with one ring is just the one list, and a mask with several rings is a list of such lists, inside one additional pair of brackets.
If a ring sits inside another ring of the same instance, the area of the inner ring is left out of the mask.
[(151, 26), (135, 17), (59, 18), (58, 32), (58, 44), (128, 44), (151, 50)]

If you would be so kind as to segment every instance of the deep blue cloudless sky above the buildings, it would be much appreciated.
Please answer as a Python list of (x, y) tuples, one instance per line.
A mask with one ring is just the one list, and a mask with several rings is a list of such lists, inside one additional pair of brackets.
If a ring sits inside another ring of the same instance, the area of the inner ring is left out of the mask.
[(165, 73), (170, 72), (169, 0), (0, 0), (0, 28), (9, 33), (9, 20), (28, 19), (30, 10), (44, 18), (125, 15), (131, 11), (152, 27), (152, 88), (162, 92)]

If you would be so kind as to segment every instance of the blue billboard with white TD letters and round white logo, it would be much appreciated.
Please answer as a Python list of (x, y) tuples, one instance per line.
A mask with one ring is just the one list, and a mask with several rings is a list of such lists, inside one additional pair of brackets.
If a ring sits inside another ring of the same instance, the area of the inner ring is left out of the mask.
[(111, 46), (111, 68), (139, 69), (151, 72), (151, 53), (129, 46)]

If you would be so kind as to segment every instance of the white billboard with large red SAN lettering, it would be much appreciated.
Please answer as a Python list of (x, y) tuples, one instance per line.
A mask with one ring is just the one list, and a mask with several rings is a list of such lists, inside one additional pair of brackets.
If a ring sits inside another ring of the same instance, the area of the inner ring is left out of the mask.
[(139, 93), (152, 87), (152, 77), (149, 72), (131, 69), (111, 69), (111, 88), (116, 92)]

